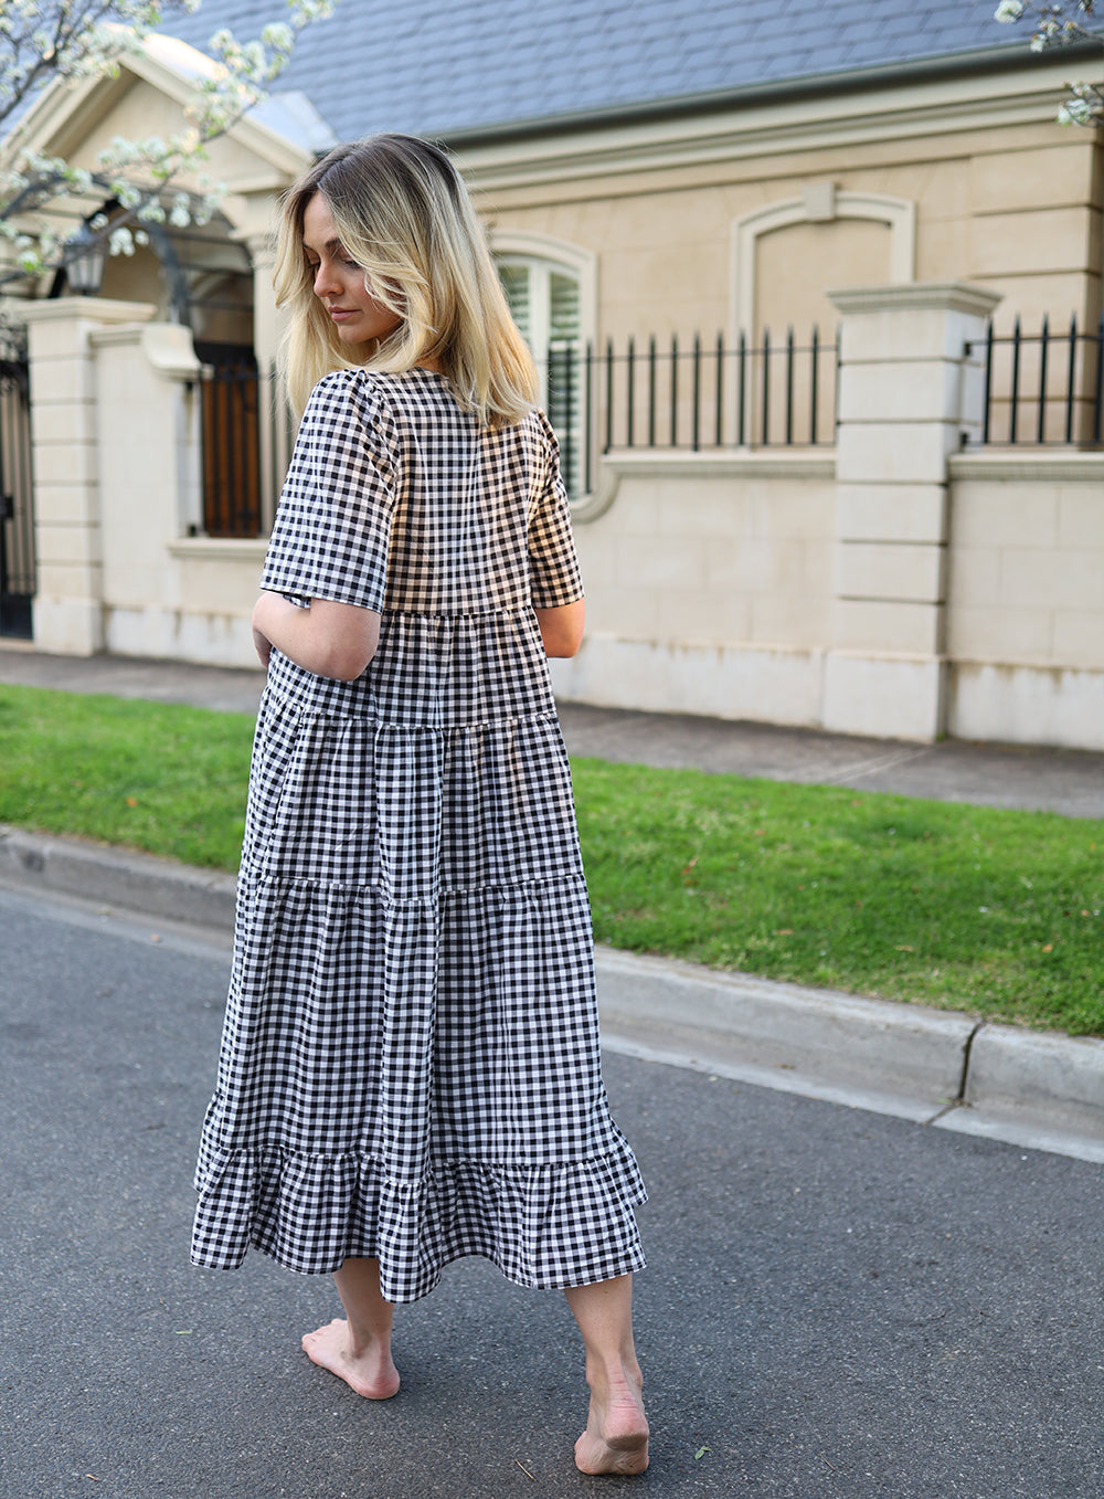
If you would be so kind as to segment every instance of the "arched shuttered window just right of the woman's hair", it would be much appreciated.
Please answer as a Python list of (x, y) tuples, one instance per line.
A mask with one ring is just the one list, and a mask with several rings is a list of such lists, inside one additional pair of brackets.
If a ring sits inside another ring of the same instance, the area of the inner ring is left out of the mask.
[(568, 493), (578, 499), (590, 468), (586, 351), (593, 337), (593, 256), (536, 235), (496, 235), (494, 252), (509, 310), (533, 351)]

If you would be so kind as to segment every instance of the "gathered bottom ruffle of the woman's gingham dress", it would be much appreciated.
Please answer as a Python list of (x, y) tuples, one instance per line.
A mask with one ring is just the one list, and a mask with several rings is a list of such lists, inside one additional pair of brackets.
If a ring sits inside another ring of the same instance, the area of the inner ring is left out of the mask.
[(371, 1156), (216, 1150), (196, 1187), (192, 1264), (207, 1270), (237, 1270), (250, 1249), (297, 1274), (379, 1259), (385, 1300), (404, 1303), (428, 1295), (445, 1265), (472, 1255), (542, 1291), (644, 1267), (632, 1210), (647, 1193), (623, 1139), (590, 1160), (454, 1159), (406, 1181)]

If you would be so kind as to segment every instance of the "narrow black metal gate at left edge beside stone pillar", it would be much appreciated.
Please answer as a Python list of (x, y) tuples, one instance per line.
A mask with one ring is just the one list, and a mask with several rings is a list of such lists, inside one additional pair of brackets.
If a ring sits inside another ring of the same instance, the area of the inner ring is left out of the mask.
[(27, 349), (0, 330), (0, 636), (30, 640), (34, 511)]

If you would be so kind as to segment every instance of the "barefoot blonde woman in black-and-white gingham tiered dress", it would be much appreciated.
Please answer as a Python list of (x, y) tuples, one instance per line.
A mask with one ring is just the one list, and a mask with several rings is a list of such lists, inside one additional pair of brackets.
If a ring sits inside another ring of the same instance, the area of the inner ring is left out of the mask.
[(253, 639), (268, 682), (193, 1262), (334, 1273), (309, 1357), (398, 1390), (394, 1304), (485, 1255), (563, 1288), (584, 1472), (643, 1472), (635, 1159), (601, 1081), (547, 655), (583, 591), (556, 441), (466, 189), (410, 136), (286, 195), (306, 412)]

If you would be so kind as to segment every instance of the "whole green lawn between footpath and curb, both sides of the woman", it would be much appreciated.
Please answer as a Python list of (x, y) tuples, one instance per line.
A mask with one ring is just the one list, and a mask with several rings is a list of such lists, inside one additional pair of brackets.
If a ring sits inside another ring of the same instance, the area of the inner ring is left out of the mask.
[[(0, 821), (232, 869), (252, 720), (0, 687)], [(574, 761), (595, 935), (1104, 1036), (1104, 824)]]

